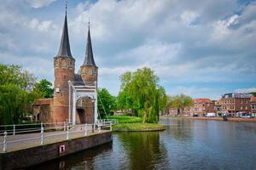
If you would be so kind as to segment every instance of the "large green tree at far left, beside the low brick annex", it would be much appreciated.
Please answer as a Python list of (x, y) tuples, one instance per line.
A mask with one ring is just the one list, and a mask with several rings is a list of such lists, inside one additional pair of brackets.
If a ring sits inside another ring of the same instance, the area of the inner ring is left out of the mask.
[(19, 123), (32, 112), (38, 94), (29, 90), (36, 78), (18, 65), (0, 64), (0, 124)]

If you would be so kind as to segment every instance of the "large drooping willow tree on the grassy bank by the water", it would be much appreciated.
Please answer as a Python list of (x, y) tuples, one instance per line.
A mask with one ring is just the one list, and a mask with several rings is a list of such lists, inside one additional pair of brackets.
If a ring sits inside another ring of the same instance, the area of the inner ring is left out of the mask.
[[(136, 116), (143, 118), (143, 122), (158, 122), (160, 111), (166, 105), (166, 91), (159, 85), (159, 77), (149, 68), (126, 72), (120, 77), (121, 87), (119, 96), (125, 109), (131, 109)], [(127, 103), (127, 101), (130, 101)]]

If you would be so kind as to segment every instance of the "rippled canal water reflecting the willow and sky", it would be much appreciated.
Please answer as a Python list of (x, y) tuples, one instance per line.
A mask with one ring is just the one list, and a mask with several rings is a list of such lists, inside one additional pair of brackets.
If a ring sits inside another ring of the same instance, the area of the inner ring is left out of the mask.
[(113, 143), (31, 169), (256, 169), (256, 123), (163, 118), (166, 131), (113, 133)]

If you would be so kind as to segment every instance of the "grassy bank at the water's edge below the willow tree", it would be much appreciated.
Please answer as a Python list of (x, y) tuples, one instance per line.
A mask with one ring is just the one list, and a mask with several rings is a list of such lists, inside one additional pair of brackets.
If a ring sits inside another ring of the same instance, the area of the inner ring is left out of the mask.
[(165, 130), (163, 125), (154, 123), (119, 123), (112, 126), (113, 132), (148, 132)]

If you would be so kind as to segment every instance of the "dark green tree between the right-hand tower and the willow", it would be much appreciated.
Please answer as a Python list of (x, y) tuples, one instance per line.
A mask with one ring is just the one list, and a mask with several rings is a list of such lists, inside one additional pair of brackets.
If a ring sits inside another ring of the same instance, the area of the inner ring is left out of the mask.
[(107, 88), (99, 88), (98, 90), (98, 111), (100, 116), (104, 117), (106, 114), (110, 114), (110, 111), (115, 110), (115, 98), (109, 94)]

